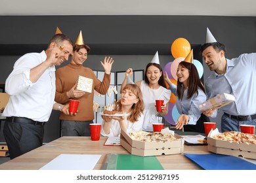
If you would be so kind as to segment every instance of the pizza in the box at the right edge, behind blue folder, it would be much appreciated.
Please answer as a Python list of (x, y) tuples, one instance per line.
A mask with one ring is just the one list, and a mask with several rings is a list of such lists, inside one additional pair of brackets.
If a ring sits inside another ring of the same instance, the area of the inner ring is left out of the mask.
[(256, 144), (256, 135), (249, 133), (241, 133), (239, 131), (225, 131), (221, 134), (215, 135), (213, 139), (228, 142), (238, 142), (238, 144)]

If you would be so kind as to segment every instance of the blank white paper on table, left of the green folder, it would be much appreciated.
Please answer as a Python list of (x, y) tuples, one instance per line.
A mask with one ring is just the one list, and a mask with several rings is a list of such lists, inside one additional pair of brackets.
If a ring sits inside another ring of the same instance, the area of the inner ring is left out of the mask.
[(40, 170), (93, 170), (100, 154), (60, 154)]

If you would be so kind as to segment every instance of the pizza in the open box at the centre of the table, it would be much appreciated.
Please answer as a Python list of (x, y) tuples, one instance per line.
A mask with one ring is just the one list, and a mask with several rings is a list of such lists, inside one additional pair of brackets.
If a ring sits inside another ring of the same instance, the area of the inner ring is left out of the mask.
[(177, 140), (169, 133), (134, 131), (129, 133), (130, 137), (135, 141), (141, 142), (167, 142)]

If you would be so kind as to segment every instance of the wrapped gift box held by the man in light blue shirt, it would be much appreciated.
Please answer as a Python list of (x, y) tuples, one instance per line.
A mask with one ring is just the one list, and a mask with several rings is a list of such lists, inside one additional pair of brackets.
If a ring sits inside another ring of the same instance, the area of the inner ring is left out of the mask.
[(198, 105), (199, 110), (205, 111), (210, 108), (221, 108), (229, 103), (236, 101), (234, 95), (223, 93), (221, 95), (216, 95), (215, 97), (205, 101)]

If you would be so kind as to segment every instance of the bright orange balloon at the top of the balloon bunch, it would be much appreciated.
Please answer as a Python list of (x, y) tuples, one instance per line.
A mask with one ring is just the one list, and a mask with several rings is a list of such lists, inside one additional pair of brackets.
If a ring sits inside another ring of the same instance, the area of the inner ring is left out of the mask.
[(186, 58), (190, 50), (190, 43), (182, 37), (175, 39), (173, 44), (171, 44), (171, 54), (175, 59), (179, 57)]

